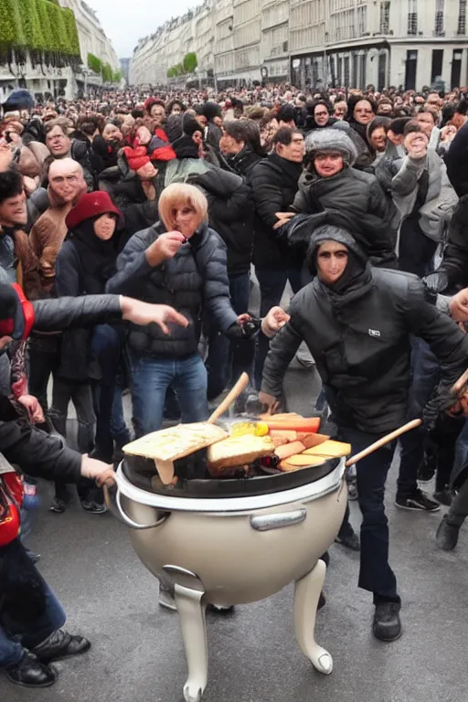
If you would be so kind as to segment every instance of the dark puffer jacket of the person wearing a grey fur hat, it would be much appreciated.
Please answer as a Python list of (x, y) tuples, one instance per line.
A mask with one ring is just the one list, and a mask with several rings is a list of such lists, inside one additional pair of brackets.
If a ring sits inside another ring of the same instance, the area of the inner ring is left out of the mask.
[[(359, 243), (372, 264), (396, 268), (395, 207), (389, 204), (376, 176), (356, 168), (344, 168), (329, 178), (321, 178), (314, 172), (304, 173), (299, 181), (293, 209), (303, 214), (325, 210), (345, 212), (359, 223), (356, 236), (359, 235)], [(286, 229), (291, 230), (294, 225), (293, 218)]]

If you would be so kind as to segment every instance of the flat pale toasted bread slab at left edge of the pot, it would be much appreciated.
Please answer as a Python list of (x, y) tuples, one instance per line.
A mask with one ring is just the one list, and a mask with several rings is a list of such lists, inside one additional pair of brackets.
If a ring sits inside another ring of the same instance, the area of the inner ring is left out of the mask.
[(176, 461), (190, 453), (226, 439), (228, 433), (216, 424), (200, 421), (196, 424), (177, 424), (153, 431), (123, 447), (124, 453), (153, 458), (155, 461)]

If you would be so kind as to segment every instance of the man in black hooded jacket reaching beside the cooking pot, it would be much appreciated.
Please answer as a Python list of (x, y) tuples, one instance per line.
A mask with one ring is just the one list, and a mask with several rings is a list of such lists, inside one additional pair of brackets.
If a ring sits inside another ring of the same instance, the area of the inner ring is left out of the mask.
[[(338, 436), (359, 452), (406, 420), (410, 334), (431, 346), (441, 362), (444, 386), (452, 385), (467, 365), (468, 337), (426, 301), (415, 276), (370, 268), (346, 230), (330, 225), (315, 229), (309, 254), (317, 276), (293, 297), (291, 319), (271, 341), (259, 399), (274, 407), (286, 368), (305, 341), (326, 388)], [(395, 442), (356, 465), (363, 515), (359, 587), (373, 593), (373, 632), (383, 641), (401, 634), (384, 507), (394, 451)]]

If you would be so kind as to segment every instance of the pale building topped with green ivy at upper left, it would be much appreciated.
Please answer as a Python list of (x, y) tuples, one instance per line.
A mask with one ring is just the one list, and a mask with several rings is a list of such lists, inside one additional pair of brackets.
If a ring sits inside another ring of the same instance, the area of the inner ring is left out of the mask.
[(0, 0), (0, 101), (14, 88), (70, 99), (120, 78), (112, 43), (84, 0)]

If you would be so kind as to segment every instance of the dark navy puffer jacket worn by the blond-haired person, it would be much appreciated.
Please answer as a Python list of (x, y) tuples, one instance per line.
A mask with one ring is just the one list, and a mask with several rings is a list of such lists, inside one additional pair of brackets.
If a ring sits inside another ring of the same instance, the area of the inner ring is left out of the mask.
[(169, 304), (190, 322), (173, 326), (170, 335), (152, 324), (133, 324), (129, 346), (138, 355), (183, 358), (197, 353), (202, 311), (213, 316), (221, 331), (237, 321), (229, 299), (226, 246), (206, 224), (184, 244), (173, 259), (152, 268), (145, 250), (165, 233), (161, 223), (135, 234), (117, 260), (117, 273), (107, 283), (108, 293), (130, 295), (147, 303)]

